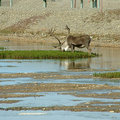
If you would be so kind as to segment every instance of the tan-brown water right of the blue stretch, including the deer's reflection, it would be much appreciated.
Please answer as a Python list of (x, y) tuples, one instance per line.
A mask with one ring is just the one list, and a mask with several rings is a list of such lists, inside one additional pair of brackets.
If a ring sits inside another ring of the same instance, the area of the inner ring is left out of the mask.
[(93, 52), (101, 56), (89, 59), (61, 60), (60, 65), (66, 70), (91, 69), (120, 71), (120, 48), (97, 47)]

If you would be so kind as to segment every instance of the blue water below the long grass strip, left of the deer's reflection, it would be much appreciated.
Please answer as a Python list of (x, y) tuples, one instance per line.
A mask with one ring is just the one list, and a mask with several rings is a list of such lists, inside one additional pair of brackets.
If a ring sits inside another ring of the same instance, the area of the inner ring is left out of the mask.
[(40, 73), (59, 70), (59, 61), (56, 60), (0, 60), (0, 73)]

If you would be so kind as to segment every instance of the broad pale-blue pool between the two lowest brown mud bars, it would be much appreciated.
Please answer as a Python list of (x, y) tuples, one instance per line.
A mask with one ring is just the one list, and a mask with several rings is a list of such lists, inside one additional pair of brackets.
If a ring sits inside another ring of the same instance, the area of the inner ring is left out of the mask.
[[(112, 92), (116, 92), (113, 90)], [(101, 93), (107, 93), (108, 91), (101, 91)], [(117, 91), (120, 92), (120, 91)], [(64, 95), (64, 92), (41, 92), (32, 93), (32, 95), (43, 95), (40, 97), (24, 97), (24, 98), (7, 98), (6, 100), (20, 100), (20, 102), (14, 104), (1, 104), (2, 108), (7, 107), (49, 107), (49, 106), (75, 106), (77, 104), (88, 103), (91, 101), (101, 101), (101, 102), (119, 102), (118, 99), (107, 99), (107, 98), (92, 98), (92, 97), (76, 97), (71, 95)], [(68, 92), (69, 93), (69, 92)], [(75, 93), (75, 92), (73, 92)], [(77, 93), (77, 92), (76, 92)], [(91, 93), (80, 92), (80, 94)], [(96, 93), (94, 91), (94, 93)], [(100, 94), (100, 92), (99, 92)], [(4, 98), (0, 99), (4, 100)], [(49, 100), (49, 102), (48, 102)], [(108, 105), (108, 104), (106, 104)]]

